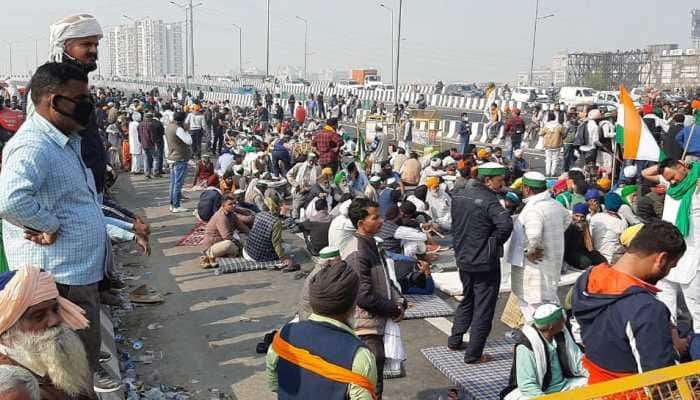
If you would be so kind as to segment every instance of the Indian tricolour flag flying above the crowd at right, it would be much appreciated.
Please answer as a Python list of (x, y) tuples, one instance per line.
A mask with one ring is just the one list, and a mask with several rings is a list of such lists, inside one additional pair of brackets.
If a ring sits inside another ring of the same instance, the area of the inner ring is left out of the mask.
[(659, 144), (656, 143), (649, 128), (632, 103), (632, 97), (620, 85), (620, 103), (617, 105), (617, 124), (615, 136), (618, 144), (623, 146), (622, 158), (625, 160), (646, 160), (657, 162), (664, 158)]

